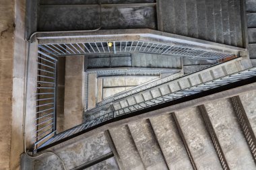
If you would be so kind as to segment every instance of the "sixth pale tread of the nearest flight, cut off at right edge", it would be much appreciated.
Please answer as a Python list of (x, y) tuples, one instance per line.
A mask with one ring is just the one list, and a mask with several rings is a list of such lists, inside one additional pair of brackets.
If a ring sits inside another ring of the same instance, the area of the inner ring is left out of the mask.
[(243, 93), (239, 95), (245, 112), (247, 114), (247, 118), (251, 124), (251, 128), (253, 128), (253, 132), (256, 135), (256, 91), (250, 91), (249, 93)]

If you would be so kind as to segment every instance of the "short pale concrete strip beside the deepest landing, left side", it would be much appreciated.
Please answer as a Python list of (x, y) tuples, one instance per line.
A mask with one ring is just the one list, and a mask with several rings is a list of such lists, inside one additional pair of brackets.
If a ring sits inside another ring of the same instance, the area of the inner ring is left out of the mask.
[(96, 107), (97, 75), (88, 75), (88, 110)]

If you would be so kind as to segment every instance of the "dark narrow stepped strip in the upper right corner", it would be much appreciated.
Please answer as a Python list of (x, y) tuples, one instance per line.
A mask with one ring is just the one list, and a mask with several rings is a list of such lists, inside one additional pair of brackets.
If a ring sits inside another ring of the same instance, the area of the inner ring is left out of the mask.
[(256, 66), (256, 1), (247, 0), (247, 26), (249, 40), (249, 56), (251, 63)]

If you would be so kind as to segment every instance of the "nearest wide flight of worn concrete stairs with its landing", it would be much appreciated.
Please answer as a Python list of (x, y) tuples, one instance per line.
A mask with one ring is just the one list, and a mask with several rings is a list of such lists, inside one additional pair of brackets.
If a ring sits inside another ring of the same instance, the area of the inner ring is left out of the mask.
[[(255, 169), (255, 102), (256, 91), (249, 91), (110, 128), (109, 144), (100, 133), (52, 149), (67, 169), (88, 165), (110, 148), (113, 158), (87, 169)], [(35, 163), (36, 169), (61, 169), (53, 156)]]

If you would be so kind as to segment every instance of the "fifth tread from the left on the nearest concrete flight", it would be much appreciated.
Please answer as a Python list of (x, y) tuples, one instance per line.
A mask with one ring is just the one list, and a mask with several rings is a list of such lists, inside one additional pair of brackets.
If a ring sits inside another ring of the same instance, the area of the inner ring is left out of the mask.
[(254, 169), (253, 158), (230, 100), (206, 103), (205, 108), (230, 169)]

